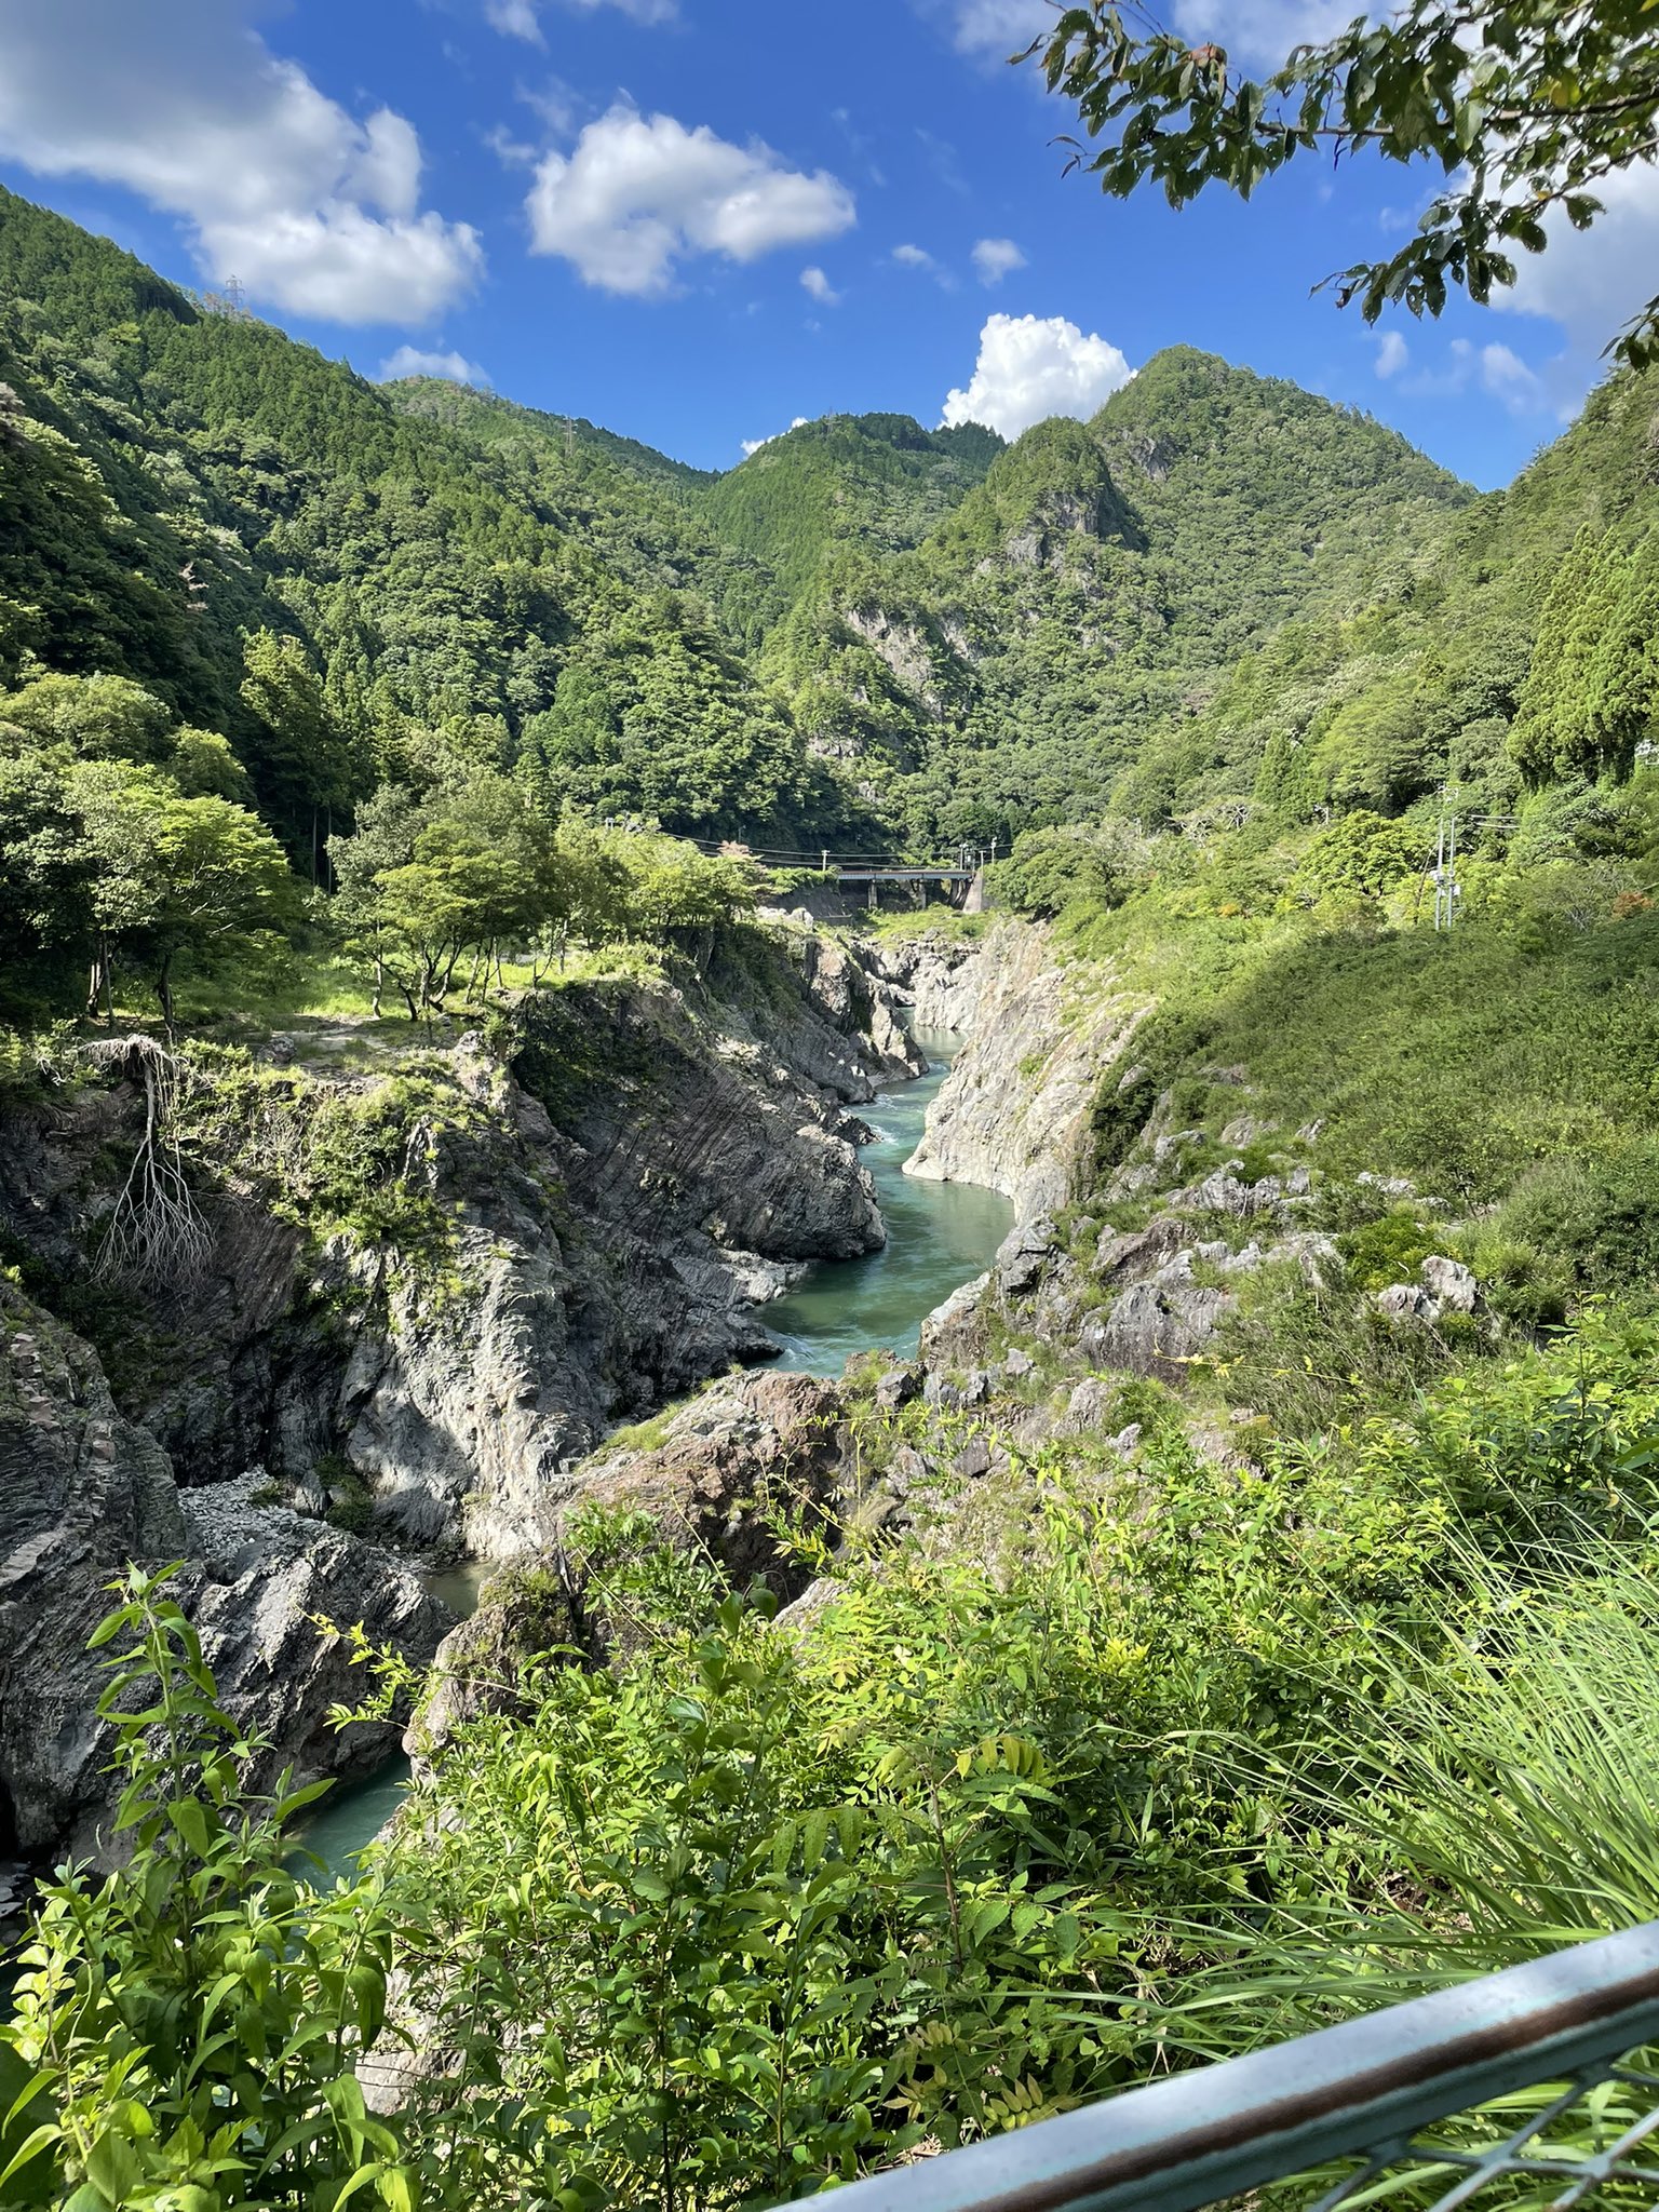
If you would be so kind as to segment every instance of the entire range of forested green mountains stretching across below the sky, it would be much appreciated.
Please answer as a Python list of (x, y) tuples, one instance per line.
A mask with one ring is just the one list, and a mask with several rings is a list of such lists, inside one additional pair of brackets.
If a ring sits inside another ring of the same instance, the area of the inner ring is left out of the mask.
[[(1011, 447), (830, 416), (710, 476), (369, 385), (11, 195), (0, 378), (0, 681), (139, 684), (230, 743), (312, 867), (383, 783), (469, 765), (677, 832), (933, 847), (1391, 814), (1444, 776), (1504, 807), (1522, 770), (1595, 776), (1639, 741), (1630, 378), (1486, 500), (1186, 347)], [(1604, 630), (1624, 657), (1586, 721), (1548, 670)], [(250, 679), (261, 633), (285, 706)]]

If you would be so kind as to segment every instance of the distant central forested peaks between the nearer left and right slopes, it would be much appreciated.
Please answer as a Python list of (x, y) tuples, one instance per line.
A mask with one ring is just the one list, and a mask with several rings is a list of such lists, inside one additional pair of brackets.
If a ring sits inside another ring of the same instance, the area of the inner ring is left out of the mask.
[[(491, 447), (551, 462), (586, 438), (427, 394), (403, 405)], [(1469, 500), (1398, 434), (1179, 347), (1093, 422), (1013, 447), (830, 416), (670, 489), (732, 644), (920, 845), (1091, 818), (1217, 670), (1292, 617), (1407, 588)]]

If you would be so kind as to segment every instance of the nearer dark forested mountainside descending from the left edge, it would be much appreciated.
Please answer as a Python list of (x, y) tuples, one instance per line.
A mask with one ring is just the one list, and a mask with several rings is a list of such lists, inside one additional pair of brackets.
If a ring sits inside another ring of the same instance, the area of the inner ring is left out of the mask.
[[(467, 763), (544, 768), (677, 830), (849, 830), (688, 588), (719, 546), (644, 449), (566, 451), (473, 396), (378, 389), (11, 195), (0, 380), (0, 679), (135, 679), (230, 739), (292, 845), (387, 779)], [(261, 630), (319, 695), (288, 728), (246, 697)], [(584, 646), (577, 712), (560, 679)]]

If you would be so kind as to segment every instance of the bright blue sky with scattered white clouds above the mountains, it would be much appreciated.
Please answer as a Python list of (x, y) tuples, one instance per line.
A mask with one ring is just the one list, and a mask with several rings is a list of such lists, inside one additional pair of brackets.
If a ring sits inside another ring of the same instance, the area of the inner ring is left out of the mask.
[[(1347, 0), (1170, 0), (1259, 62)], [(1367, 407), (1482, 487), (1655, 283), (1659, 192), (1511, 312), (1367, 332), (1314, 279), (1398, 168), (1106, 201), (1002, 66), (1044, 0), (7, 0), (0, 177), (365, 374), (440, 361), (701, 467), (832, 409), (1004, 431), (1190, 343)], [(142, 18), (142, 20), (139, 20)], [(1524, 312), (1520, 312), (1524, 310)], [(405, 352), (407, 349), (407, 352)], [(951, 398), (956, 394), (956, 398)]]

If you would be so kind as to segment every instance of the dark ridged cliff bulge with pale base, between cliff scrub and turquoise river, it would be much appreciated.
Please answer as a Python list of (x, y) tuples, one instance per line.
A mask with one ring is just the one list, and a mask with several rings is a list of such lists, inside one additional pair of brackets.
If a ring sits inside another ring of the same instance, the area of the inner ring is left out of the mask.
[[(524, 1022), (511, 1068), (462, 1071), (491, 1135), (440, 1172), (476, 1287), (392, 1287), (336, 1400), (376, 1520), (480, 1557), (546, 1540), (615, 1420), (768, 1358), (763, 1303), (801, 1265), (885, 1239), (841, 1106), (759, 1044), (710, 1048), (655, 993), (566, 993)], [(869, 1095), (838, 1033), (812, 1040)]]

